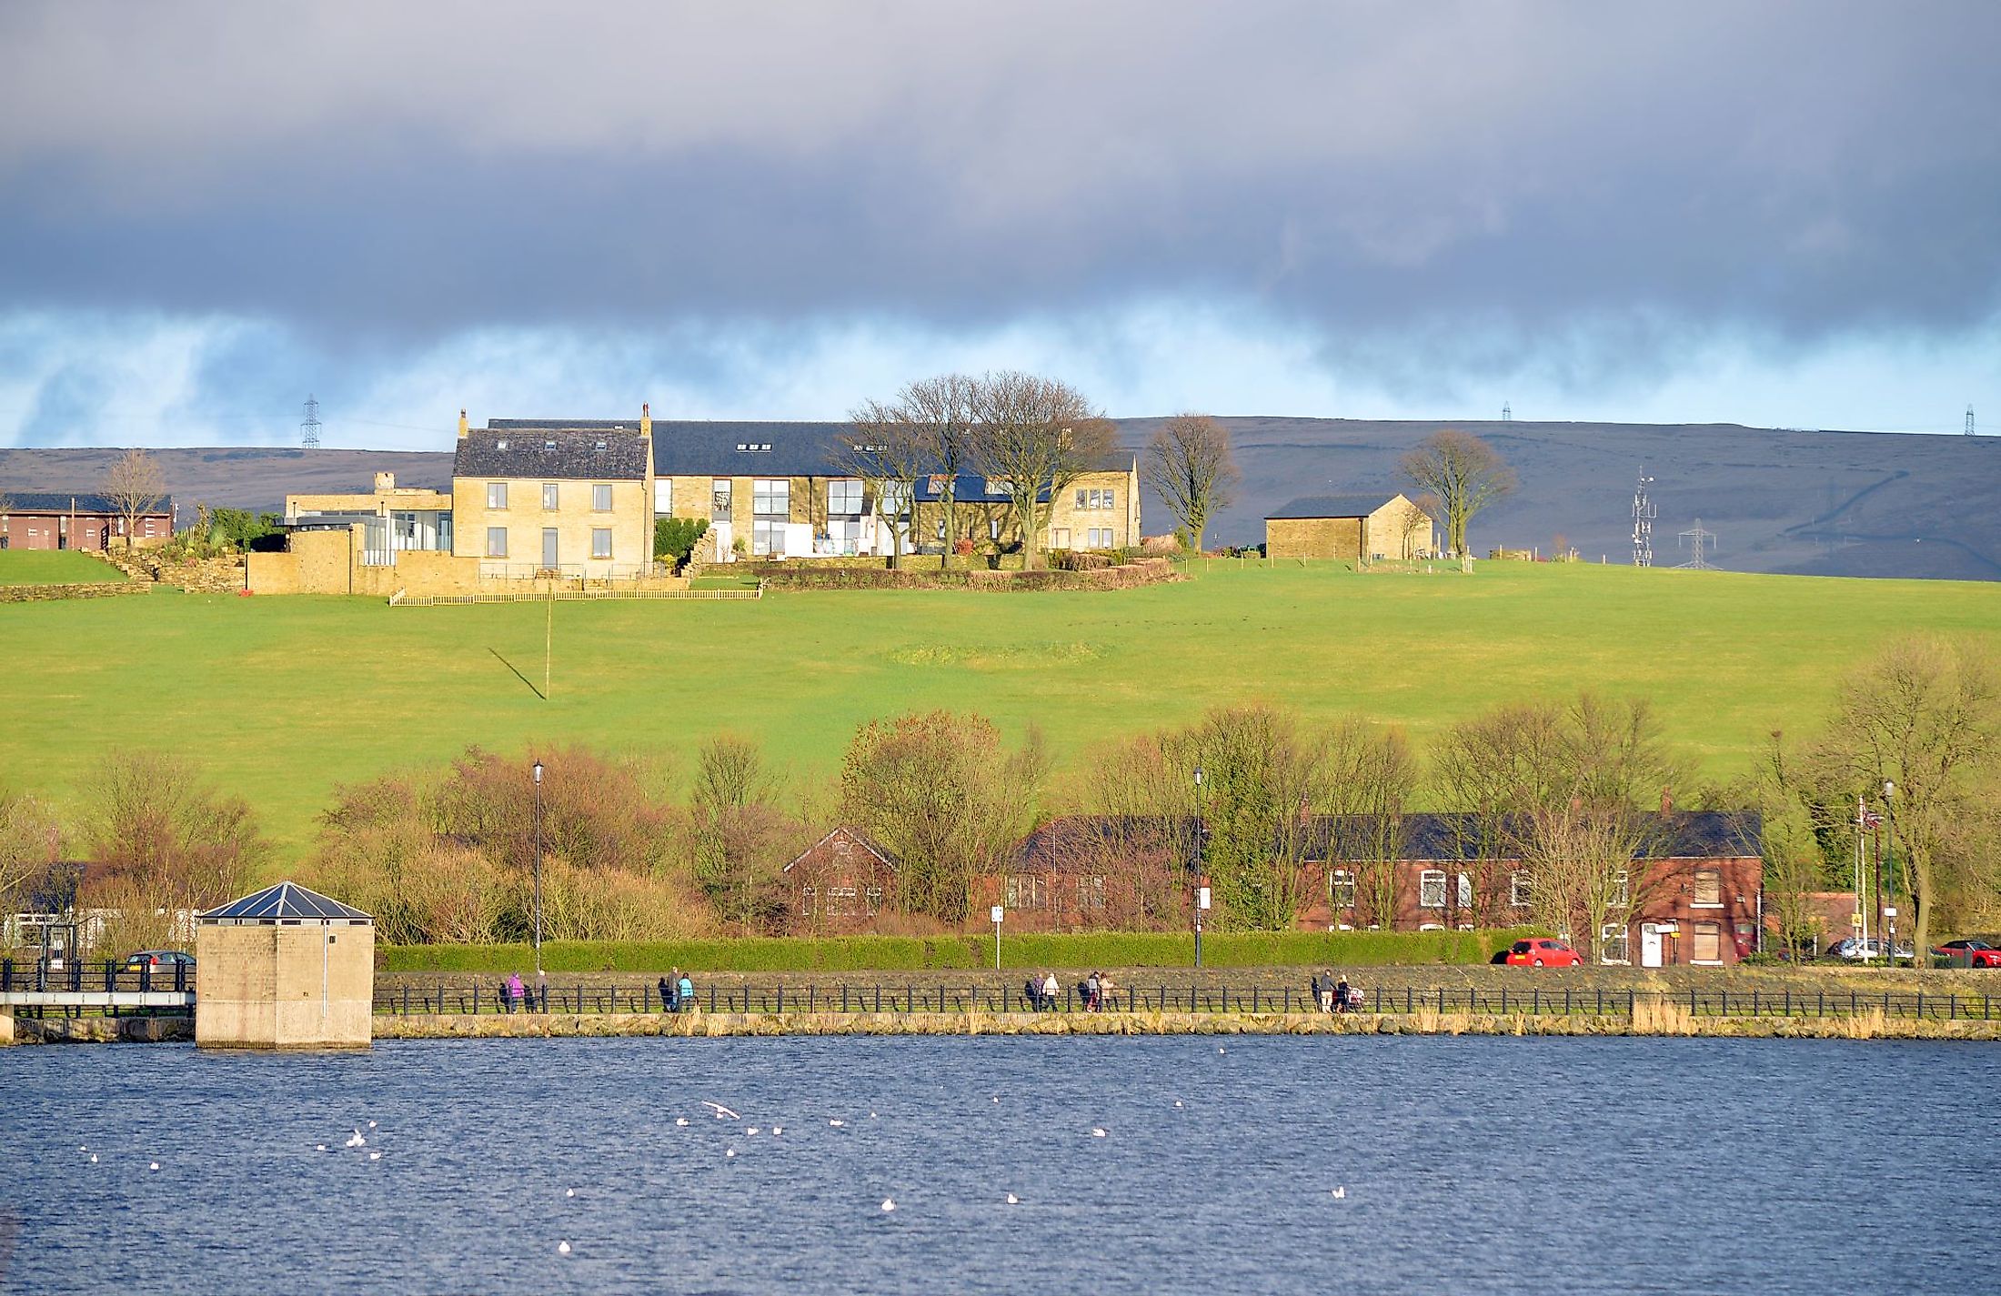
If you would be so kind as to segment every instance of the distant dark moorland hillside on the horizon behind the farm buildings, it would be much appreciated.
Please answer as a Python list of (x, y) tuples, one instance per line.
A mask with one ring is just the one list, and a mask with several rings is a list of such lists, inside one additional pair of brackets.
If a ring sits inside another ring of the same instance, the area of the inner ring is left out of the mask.
[[(1143, 446), (1159, 420), (1121, 420)], [(1481, 514), (1473, 544), (1549, 550), (1557, 536), (1597, 560), (1631, 558), (1631, 496), (1655, 478), (1655, 562), (1683, 562), (1677, 532), (1717, 534), (1717, 566), (1825, 576), (2001, 580), (2001, 438), (1795, 432), (1735, 424), (1371, 422), (1227, 418), (1245, 472), (1211, 542), (1257, 544), (1269, 510), (1303, 494), (1403, 490), (1405, 450), (1453, 426), (1489, 438), (1521, 490)], [(676, 424), (656, 422), (654, 436)], [(6, 490), (94, 490), (118, 450), (0, 450)], [(158, 450), (182, 516), (196, 502), (278, 508), (286, 492), (366, 490), (388, 470), (404, 486), (446, 486), (450, 448)], [(1145, 500), (1149, 532), (1169, 530)]]

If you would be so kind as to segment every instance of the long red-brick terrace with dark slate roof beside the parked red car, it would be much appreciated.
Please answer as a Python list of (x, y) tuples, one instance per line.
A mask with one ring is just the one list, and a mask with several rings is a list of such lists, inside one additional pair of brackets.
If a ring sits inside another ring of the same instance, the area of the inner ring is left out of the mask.
[[(1631, 908), (1601, 932), (1601, 962), (1659, 968), (1733, 964), (1757, 950), (1765, 862), (1755, 812), (1669, 810), (1633, 860)], [(1409, 814), (1393, 868), (1395, 930), (1511, 926), (1529, 916), (1521, 862), (1483, 858), (1475, 816)], [(1369, 912), (1377, 864), (1329, 862), (1339, 824), (1323, 820), (1305, 870), (1303, 926), (1353, 928), (1381, 920)]]

